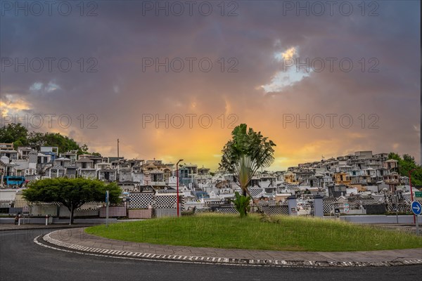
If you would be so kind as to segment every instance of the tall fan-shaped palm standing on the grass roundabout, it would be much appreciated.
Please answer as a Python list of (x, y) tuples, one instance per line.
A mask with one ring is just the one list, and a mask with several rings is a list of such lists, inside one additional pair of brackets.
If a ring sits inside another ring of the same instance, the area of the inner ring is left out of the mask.
[(231, 140), (224, 145), (219, 169), (233, 173), (243, 196), (246, 196), (252, 176), (274, 162), (274, 146), (276, 144), (262, 136), (261, 132), (240, 124), (231, 132)]

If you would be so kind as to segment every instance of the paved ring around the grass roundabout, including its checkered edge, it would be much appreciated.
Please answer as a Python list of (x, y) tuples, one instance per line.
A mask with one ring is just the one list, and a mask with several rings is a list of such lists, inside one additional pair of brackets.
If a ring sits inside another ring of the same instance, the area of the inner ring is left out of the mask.
[(110, 240), (84, 233), (84, 228), (56, 230), (37, 237), (38, 244), (84, 254), (127, 259), (260, 266), (404, 266), (422, 264), (422, 248), (385, 251), (310, 252), (181, 247)]

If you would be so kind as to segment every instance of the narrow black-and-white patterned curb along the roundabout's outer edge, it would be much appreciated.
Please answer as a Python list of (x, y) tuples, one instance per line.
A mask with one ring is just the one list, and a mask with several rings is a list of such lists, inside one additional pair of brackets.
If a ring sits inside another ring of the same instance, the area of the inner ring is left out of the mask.
[[(139, 259), (148, 261), (172, 261), (186, 263), (211, 263), (236, 266), (277, 266), (277, 267), (383, 267), (383, 266), (409, 266), (421, 265), (422, 259), (409, 261), (379, 261), (379, 262), (357, 262), (357, 261), (285, 261), (271, 259), (229, 259), (222, 257), (205, 256), (179, 256), (165, 254), (148, 254), (133, 251), (117, 251), (94, 247), (84, 247), (77, 244), (70, 244), (51, 238), (51, 233), (34, 238), (34, 242), (40, 246), (60, 251), (70, 251), (77, 254), (91, 254), (94, 256), (109, 256), (120, 259)], [(52, 247), (54, 245), (56, 247)], [(59, 247), (59, 248), (57, 248)], [(63, 248), (65, 248), (63, 250)]]

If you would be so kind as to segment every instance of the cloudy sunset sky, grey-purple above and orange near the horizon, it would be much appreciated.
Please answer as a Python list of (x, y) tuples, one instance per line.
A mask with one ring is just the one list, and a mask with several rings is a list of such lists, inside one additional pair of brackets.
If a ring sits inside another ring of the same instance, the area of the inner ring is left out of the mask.
[(1, 125), (216, 169), (234, 126), (271, 170), (420, 155), (419, 1), (1, 1)]

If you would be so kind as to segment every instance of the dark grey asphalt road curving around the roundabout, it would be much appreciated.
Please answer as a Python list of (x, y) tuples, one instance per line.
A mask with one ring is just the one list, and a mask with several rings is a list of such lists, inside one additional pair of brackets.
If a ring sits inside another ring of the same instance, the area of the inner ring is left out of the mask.
[(0, 232), (0, 280), (419, 280), (422, 266), (272, 268), (139, 261), (41, 247), (51, 230)]

